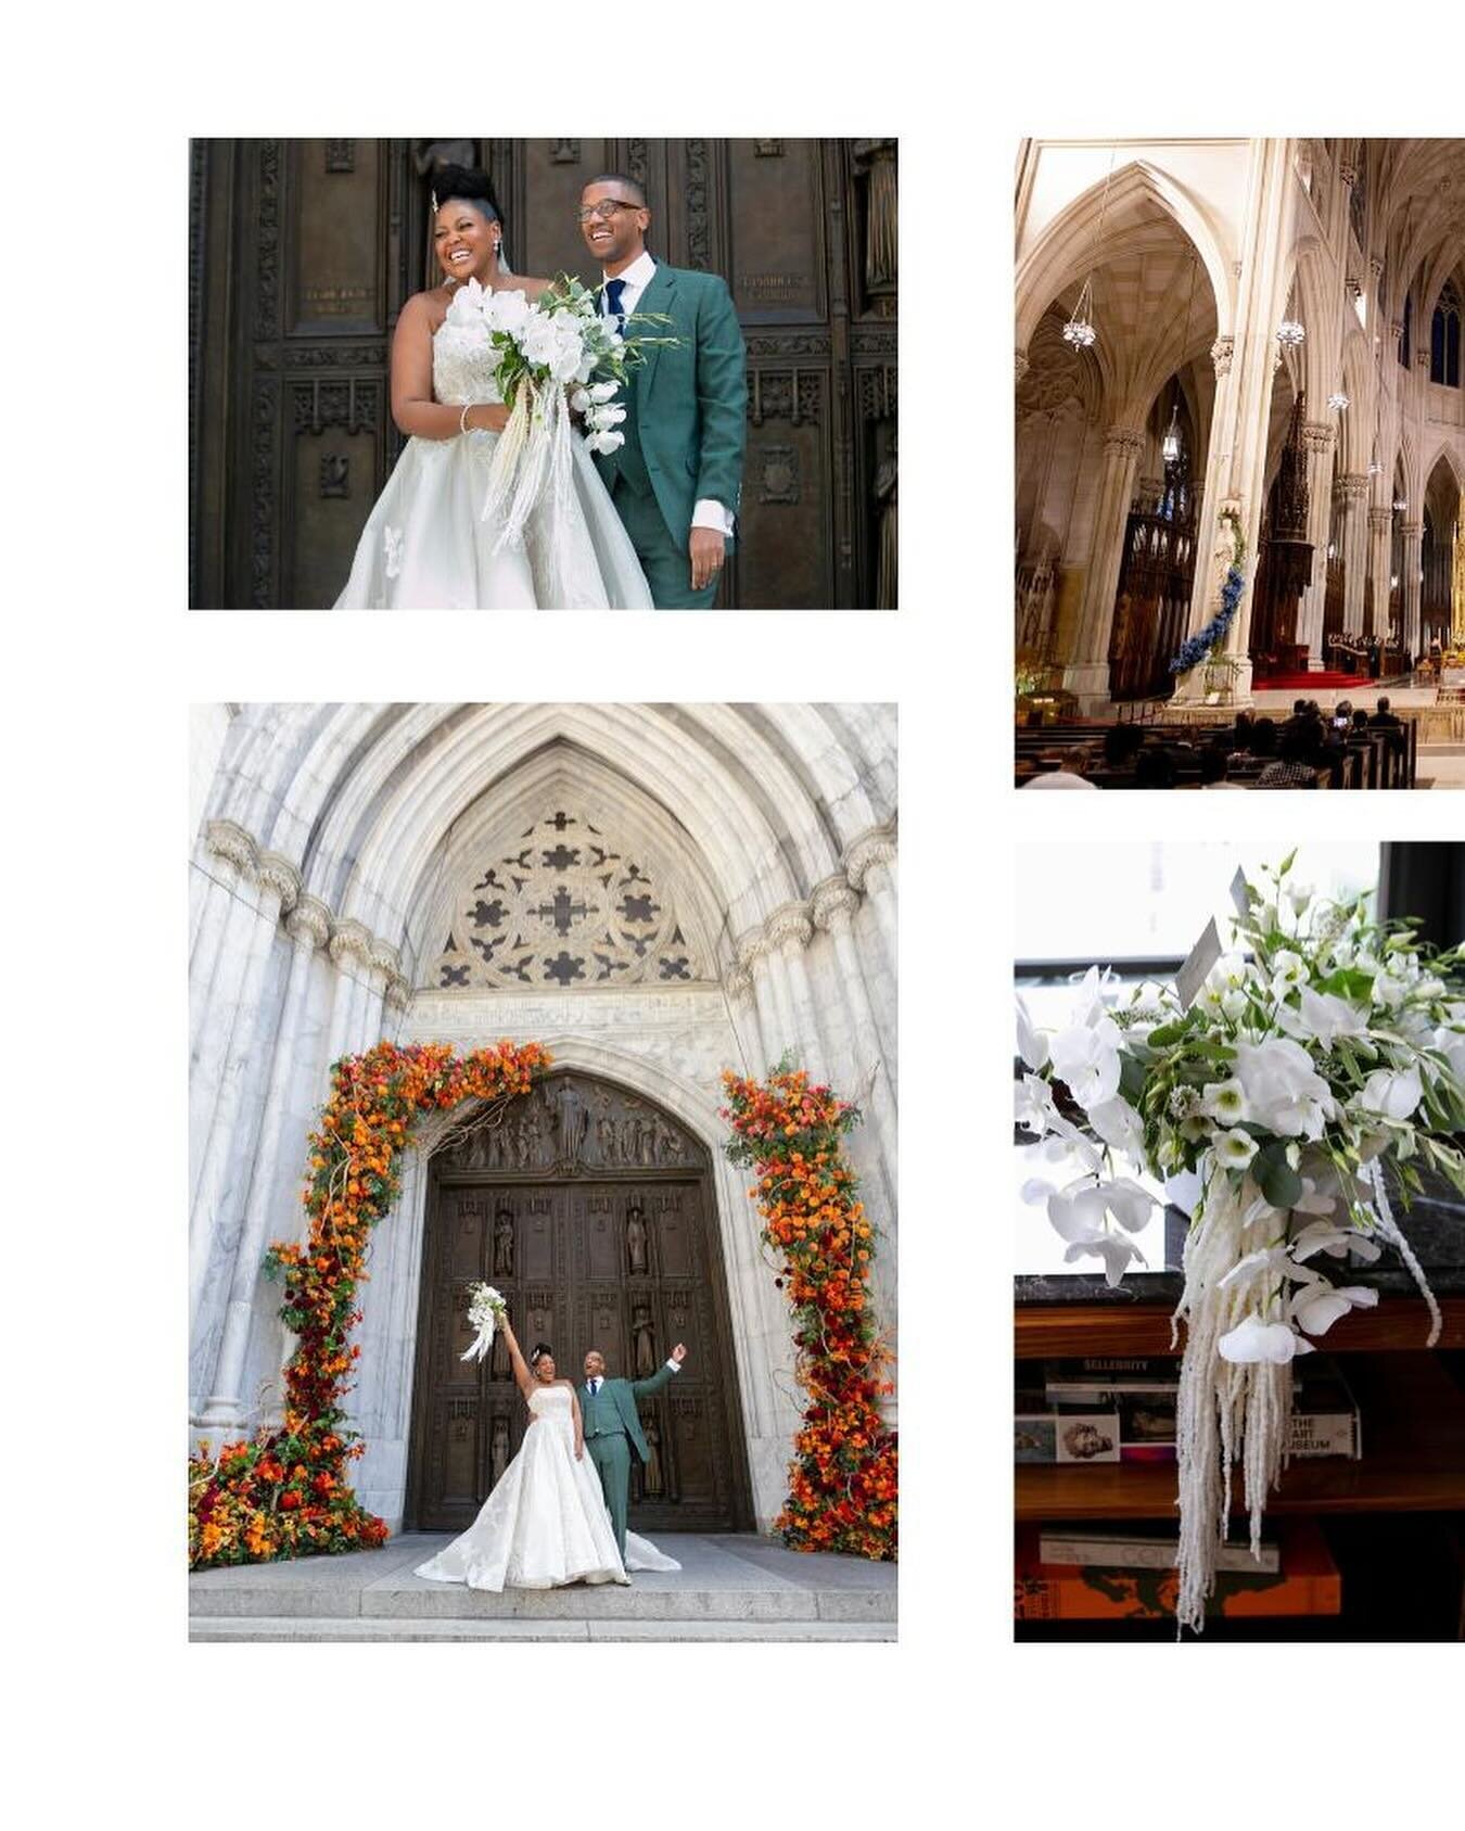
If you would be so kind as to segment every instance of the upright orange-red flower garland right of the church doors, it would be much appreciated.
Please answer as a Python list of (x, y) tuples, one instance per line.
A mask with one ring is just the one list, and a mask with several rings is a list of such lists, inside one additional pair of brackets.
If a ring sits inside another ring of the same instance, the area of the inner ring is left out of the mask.
[(723, 1150), (758, 1174), (749, 1196), (793, 1306), (798, 1384), (808, 1393), (775, 1527), (795, 1551), (894, 1560), (895, 1432), (879, 1399), (895, 1388), (879, 1379), (888, 1353), (866, 1289), (875, 1230), (841, 1146), (859, 1110), (811, 1088), (787, 1060), (765, 1084), (722, 1078), (729, 1100), (722, 1117), (734, 1132)]

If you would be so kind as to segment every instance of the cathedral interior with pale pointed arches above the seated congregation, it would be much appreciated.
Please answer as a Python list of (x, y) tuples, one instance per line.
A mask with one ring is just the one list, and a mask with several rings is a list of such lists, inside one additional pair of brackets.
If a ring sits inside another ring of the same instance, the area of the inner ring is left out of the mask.
[(1203, 692), (1168, 661), (1238, 540), (1232, 703), (1460, 650), (1463, 311), (1465, 141), (1026, 141), (1020, 676), (1082, 712)]

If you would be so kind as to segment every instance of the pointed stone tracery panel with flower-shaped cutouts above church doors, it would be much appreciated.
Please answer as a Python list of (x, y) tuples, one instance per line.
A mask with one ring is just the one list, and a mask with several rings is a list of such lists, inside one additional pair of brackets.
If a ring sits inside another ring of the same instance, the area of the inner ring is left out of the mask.
[(557, 807), (491, 848), (452, 901), (436, 991), (676, 985), (707, 980), (652, 859)]

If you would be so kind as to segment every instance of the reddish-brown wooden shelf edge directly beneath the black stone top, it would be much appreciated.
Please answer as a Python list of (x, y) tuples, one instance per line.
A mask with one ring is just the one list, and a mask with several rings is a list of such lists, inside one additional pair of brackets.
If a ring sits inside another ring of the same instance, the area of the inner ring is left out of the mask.
[[(1168, 1304), (1020, 1304), (1016, 1311), (1018, 1360), (1075, 1355), (1168, 1355)], [(1445, 1320), (1438, 1348), (1465, 1348), (1465, 1296), (1441, 1296)], [(1320, 1348), (1326, 1353), (1372, 1353), (1421, 1349), (1430, 1318), (1417, 1296), (1384, 1296), (1375, 1309), (1353, 1309), (1335, 1322)], [(1179, 1331), (1179, 1344), (1185, 1329)]]

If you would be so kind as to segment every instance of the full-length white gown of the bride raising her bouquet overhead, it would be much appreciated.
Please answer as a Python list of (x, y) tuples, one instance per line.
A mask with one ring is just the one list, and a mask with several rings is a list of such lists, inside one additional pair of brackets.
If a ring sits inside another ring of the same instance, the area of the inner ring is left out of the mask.
[(538, 1386), (518, 1456), (467, 1533), (419, 1564), (418, 1576), (469, 1589), (557, 1589), (562, 1584), (628, 1584), (626, 1571), (679, 1571), (645, 1538), (626, 1533), (615, 1551), (601, 1478), (590, 1456), (575, 1461), (573, 1393)]

